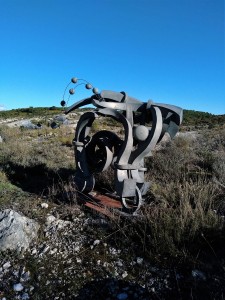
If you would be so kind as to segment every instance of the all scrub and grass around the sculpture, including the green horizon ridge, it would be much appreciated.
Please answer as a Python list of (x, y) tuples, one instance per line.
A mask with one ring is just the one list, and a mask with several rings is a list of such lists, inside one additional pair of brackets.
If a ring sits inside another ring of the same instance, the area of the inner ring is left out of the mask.
[[(34, 108), (1, 112), (0, 118), (37, 117), (43, 111), (46, 114), (46, 110)], [(50, 115), (59, 112), (57, 108), (48, 110)], [(115, 213), (108, 220), (108, 231), (95, 232), (96, 238), (98, 234), (106, 240), (110, 237), (120, 249), (129, 249), (127, 260), (136, 255), (162, 269), (204, 272), (208, 278), (204, 283), (189, 280), (176, 286), (180, 299), (188, 299), (188, 286), (203, 291), (204, 285), (211, 285), (208, 299), (225, 296), (224, 121), (225, 115), (185, 111), (181, 132), (194, 133), (162, 142), (146, 160), (151, 187), (139, 216), (126, 218)], [(96, 126), (110, 127), (110, 123)], [(45, 199), (57, 204), (64, 216), (73, 213), (72, 207), (80, 205), (72, 182), (73, 134), (74, 129), (68, 126), (54, 130), (0, 126), (1, 207), (17, 203), (26, 215), (42, 218), (43, 212), (33, 211), (33, 207)], [(111, 170), (97, 175), (96, 187), (112, 190), (111, 178)]]

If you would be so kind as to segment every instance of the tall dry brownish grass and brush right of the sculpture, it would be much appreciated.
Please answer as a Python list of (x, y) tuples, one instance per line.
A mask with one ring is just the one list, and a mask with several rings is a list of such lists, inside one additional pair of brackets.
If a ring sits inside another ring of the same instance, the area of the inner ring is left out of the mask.
[(121, 231), (116, 239), (163, 264), (196, 261), (205, 252), (215, 259), (224, 243), (224, 158), (224, 140), (213, 131), (168, 142), (147, 163), (151, 188), (141, 216), (112, 220)]

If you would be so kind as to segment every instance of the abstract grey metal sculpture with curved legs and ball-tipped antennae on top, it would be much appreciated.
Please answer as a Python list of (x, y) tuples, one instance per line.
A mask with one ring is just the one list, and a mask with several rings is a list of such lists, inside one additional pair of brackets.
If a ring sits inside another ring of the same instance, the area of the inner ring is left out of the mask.
[[(176, 135), (182, 122), (183, 110), (153, 101), (141, 102), (125, 92), (104, 90), (99, 93), (83, 79), (72, 78), (71, 83), (77, 84), (75, 88), (84, 84), (87, 89), (92, 89), (93, 95), (73, 104), (65, 113), (88, 104), (95, 107), (80, 117), (76, 127), (76, 186), (79, 191), (90, 193), (95, 185), (94, 174), (111, 166), (115, 174), (115, 195), (121, 200), (123, 211), (135, 213), (141, 207), (150, 186), (144, 179), (147, 171), (144, 158), (151, 155), (166, 132), (171, 138)], [(75, 88), (69, 90), (70, 95), (75, 93)], [(66, 105), (64, 96), (62, 106)], [(98, 116), (111, 117), (121, 123), (124, 137), (120, 138), (107, 130), (91, 136), (92, 124)]]

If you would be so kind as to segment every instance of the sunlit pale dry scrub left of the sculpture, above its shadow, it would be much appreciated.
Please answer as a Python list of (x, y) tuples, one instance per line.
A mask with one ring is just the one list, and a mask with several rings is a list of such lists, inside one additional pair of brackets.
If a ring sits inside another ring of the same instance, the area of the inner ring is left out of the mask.
[[(38, 134), (34, 138), (34, 133)], [(47, 169), (72, 168), (73, 149), (63, 147), (71, 139), (63, 129), (21, 130), (2, 127), (4, 142), (0, 144), (0, 164), (34, 167), (44, 165)], [(72, 141), (70, 141), (71, 143)]]

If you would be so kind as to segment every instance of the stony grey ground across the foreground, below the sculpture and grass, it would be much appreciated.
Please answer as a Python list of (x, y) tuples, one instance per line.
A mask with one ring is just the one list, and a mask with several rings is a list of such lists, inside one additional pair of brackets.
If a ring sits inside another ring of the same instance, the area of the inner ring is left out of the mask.
[[(63, 211), (62, 206), (39, 203), (36, 209), (42, 219), (35, 221), (39, 228), (35, 238), (34, 228), (29, 232), (17, 221), (11, 232), (14, 247), (8, 243), (1, 254), (2, 300), (222, 299), (225, 287), (218, 274), (156, 267), (141, 255), (141, 249), (132, 252), (126, 243), (122, 248), (118, 228), (104, 215), (77, 205)], [(3, 221), (1, 217), (0, 224)], [(14, 223), (11, 218), (6, 231)], [(31, 235), (26, 251), (15, 246), (21, 230)], [(1, 228), (0, 241), (6, 231)]]

